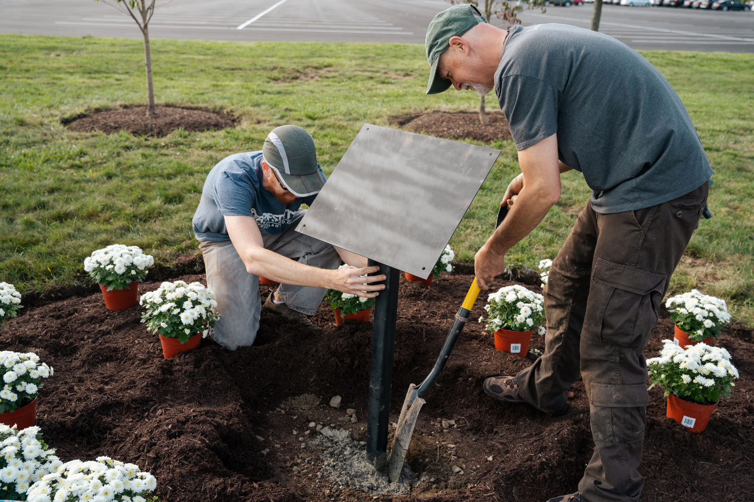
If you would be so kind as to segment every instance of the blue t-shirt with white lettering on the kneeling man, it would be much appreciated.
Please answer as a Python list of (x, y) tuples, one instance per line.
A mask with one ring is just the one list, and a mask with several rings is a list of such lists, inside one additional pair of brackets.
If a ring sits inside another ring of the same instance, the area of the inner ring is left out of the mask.
[[(320, 175), (325, 178), (320, 169)], [(227, 241), (225, 216), (251, 216), (262, 235), (283, 233), (302, 204), (317, 194), (282, 204), (262, 187), (262, 151), (225, 157), (204, 181), (192, 226), (198, 241)]]

